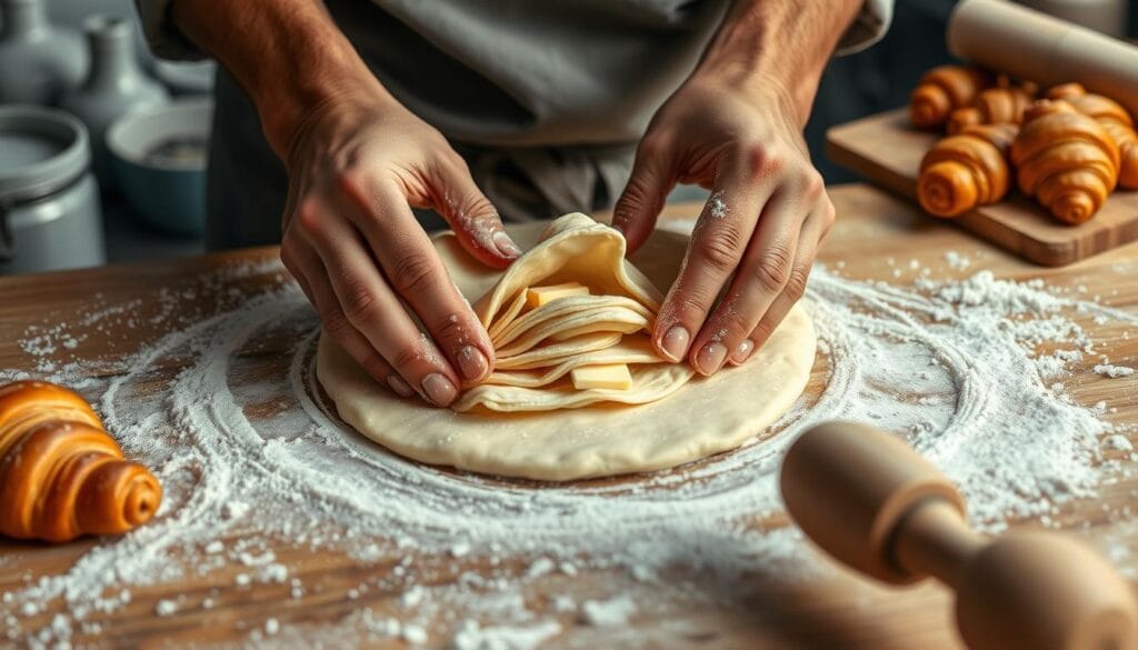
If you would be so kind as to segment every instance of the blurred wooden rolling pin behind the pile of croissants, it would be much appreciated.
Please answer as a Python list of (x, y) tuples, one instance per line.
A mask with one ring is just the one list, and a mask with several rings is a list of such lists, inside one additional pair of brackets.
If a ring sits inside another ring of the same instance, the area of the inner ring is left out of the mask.
[(1094, 30), (1005, 0), (963, 0), (948, 49), (1045, 89), (1077, 81), (1138, 115), (1138, 48)]

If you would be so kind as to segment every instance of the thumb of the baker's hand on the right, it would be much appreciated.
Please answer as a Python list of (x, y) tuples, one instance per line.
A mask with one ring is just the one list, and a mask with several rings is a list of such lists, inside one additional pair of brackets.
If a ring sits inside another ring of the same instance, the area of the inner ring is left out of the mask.
[(628, 253), (634, 253), (652, 233), (676, 174), (659, 137), (646, 135), (636, 148), (628, 184), (612, 208), (612, 227), (625, 235)]

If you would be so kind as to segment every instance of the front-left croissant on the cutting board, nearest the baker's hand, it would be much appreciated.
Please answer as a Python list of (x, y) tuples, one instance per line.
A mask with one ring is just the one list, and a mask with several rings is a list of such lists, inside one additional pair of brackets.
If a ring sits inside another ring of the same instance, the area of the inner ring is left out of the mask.
[(1012, 175), (1007, 153), (1019, 130), (1015, 124), (974, 124), (937, 142), (921, 161), (921, 207), (953, 217), (1004, 198)]

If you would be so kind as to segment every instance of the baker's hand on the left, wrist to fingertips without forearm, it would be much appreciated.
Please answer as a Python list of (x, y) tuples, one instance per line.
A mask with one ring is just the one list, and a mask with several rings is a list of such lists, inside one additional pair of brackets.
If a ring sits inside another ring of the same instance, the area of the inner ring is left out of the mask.
[(324, 332), (380, 385), (438, 406), (489, 375), (489, 336), (411, 207), (437, 211), (489, 266), (521, 252), (445, 138), (382, 89), (357, 90), (312, 112), (286, 153), (281, 261)]

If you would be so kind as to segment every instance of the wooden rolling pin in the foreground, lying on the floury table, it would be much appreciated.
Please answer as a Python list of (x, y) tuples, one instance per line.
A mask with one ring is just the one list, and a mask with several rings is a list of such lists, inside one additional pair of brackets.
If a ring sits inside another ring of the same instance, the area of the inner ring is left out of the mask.
[(1132, 650), (1138, 603), (1090, 549), (1056, 533), (973, 532), (951, 482), (901, 439), (852, 422), (794, 442), (781, 487), (794, 521), (836, 559), (892, 584), (956, 592), (973, 650)]

